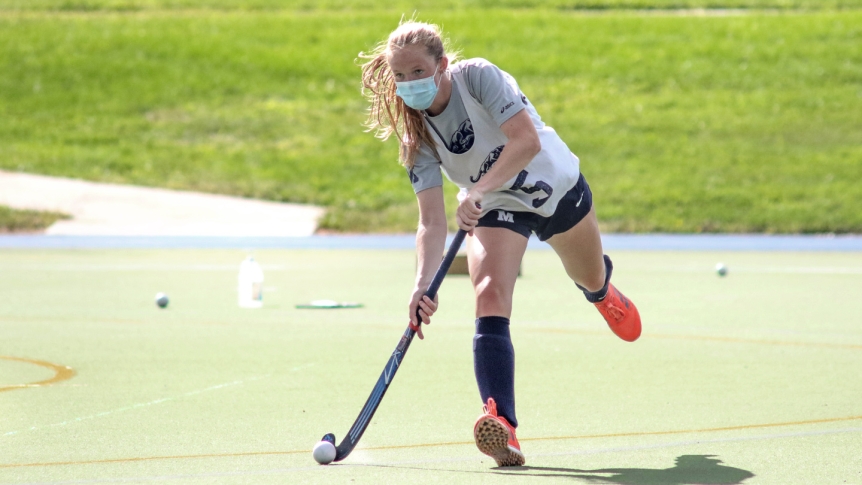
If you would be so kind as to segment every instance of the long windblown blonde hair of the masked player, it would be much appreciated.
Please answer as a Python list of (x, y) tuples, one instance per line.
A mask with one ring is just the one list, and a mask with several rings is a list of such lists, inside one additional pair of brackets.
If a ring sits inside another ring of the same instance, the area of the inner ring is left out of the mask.
[[(395, 94), (389, 56), (397, 49), (418, 45), (425, 47), (428, 55), (439, 62), (446, 55), (446, 44), (436, 25), (409, 20), (402, 22), (371, 53), (359, 53), (360, 58), (367, 59), (362, 64), (362, 94), (371, 103), (365, 126), (381, 140), (394, 133), (400, 142), (399, 161), (407, 168), (413, 168), (422, 142), (435, 154), (436, 146), (422, 113), (404, 104)], [(454, 61), (454, 54), (450, 55), (450, 62)]]

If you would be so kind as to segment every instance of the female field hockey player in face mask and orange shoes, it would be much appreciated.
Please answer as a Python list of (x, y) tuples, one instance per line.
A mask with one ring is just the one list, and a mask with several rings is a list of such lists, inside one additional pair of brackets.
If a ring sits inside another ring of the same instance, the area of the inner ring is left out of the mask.
[[(515, 428), (512, 295), (527, 239), (535, 233), (611, 330), (640, 336), (638, 311), (610, 282), (592, 193), (578, 158), (507, 73), (484, 59), (455, 62), (439, 29), (402, 23), (372, 53), (360, 53), (368, 127), (395, 134), (419, 202), (418, 269), (408, 307), (423, 338), (437, 302), (424, 296), (446, 244), (443, 179), (461, 191), (458, 226), (469, 231), (467, 260), (476, 294), (473, 358), (484, 414), (473, 435), (498, 466), (525, 462)], [(419, 318), (417, 318), (417, 310)]]

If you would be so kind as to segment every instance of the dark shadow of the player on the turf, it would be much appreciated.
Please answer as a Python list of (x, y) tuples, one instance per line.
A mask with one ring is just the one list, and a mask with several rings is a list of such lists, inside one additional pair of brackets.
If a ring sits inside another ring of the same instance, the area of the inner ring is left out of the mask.
[[(754, 476), (748, 470), (720, 465), (715, 455), (682, 455), (672, 468), (604, 468), (578, 470), (554, 467), (495, 468), (493, 473), (511, 476), (568, 477), (590, 483), (618, 483), (620, 485), (733, 485)], [(505, 470), (505, 471), (504, 471)], [(524, 473), (527, 472), (527, 473)], [(541, 472), (541, 473), (529, 473)]]

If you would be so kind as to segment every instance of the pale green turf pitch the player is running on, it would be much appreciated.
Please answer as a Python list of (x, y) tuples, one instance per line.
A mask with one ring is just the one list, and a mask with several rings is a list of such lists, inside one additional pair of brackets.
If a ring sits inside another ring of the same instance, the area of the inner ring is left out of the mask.
[[(860, 253), (612, 252), (645, 322), (628, 344), (531, 250), (517, 469), (471, 445), (464, 276), (444, 281), (358, 449), (316, 465), (405, 327), (414, 256), (255, 254), (260, 310), (236, 305), (243, 251), (0, 253), (0, 482), (862, 483)], [(321, 298), (365, 306), (294, 308)]]

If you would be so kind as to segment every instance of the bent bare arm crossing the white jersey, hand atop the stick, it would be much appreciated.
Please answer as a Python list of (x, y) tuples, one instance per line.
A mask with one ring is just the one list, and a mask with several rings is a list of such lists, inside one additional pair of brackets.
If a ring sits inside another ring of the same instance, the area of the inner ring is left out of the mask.
[(500, 158), (482, 179), (468, 192), (458, 206), (458, 226), (465, 231), (473, 230), (482, 214), (482, 199), (518, 175), (542, 149), (539, 133), (526, 109), (506, 120), (500, 129), (509, 141), (500, 153)]

